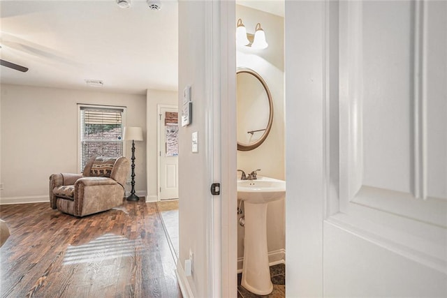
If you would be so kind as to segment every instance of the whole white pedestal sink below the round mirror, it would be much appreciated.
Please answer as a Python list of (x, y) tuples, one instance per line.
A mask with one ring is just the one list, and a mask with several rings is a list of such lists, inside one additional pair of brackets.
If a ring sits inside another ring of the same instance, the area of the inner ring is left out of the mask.
[(273, 290), (267, 249), (267, 207), (281, 200), (286, 193), (286, 181), (268, 177), (238, 180), (237, 198), (244, 201), (245, 240), (242, 286), (257, 295)]

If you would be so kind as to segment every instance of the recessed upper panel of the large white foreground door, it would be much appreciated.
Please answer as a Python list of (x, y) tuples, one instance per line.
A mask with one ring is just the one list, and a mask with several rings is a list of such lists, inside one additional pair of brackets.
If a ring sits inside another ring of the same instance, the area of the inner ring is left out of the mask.
[[(340, 5), (340, 18), (348, 20), (339, 29), (339, 68), (347, 78), (339, 103), (345, 165), (339, 178), (341, 211), (347, 214), (361, 216), (369, 207), (447, 228), (446, 84), (428, 84), (433, 72), (447, 79), (447, 60), (439, 52), (436, 64), (427, 63), (427, 44), (444, 40), (447, 47), (441, 27), (426, 34), (427, 24), (441, 21), (439, 13), (432, 19), (434, 10), (446, 12), (446, 4)], [(437, 110), (427, 109), (432, 106)]]

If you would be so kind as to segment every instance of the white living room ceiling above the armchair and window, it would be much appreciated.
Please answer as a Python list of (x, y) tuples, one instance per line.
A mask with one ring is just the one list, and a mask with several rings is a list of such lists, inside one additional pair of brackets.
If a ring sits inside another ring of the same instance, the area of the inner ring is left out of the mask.
[[(0, 1), (2, 84), (145, 94), (177, 90), (177, 1)], [(85, 80), (102, 80), (89, 87)]]

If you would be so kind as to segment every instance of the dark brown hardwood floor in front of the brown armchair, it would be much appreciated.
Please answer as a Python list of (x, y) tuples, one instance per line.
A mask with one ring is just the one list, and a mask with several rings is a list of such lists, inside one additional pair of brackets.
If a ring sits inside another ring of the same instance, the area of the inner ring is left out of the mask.
[(76, 218), (49, 203), (0, 206), (1, 297), (182, 297), (155, 203)]

